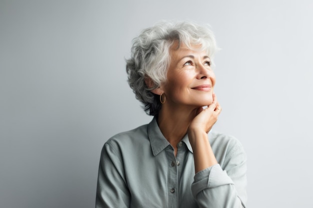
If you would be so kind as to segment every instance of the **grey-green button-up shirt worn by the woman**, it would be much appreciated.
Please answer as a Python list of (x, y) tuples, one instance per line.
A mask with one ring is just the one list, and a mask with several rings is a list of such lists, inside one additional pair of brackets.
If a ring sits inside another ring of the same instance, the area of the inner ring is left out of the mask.
[(246, 155), (235, 138), (210, 131), (217, 165), (194, 174), (185, 135), (172, 146), (156, 119), (117, 134), (103, 146), (96, 208), (242, 208), (246, 206)]

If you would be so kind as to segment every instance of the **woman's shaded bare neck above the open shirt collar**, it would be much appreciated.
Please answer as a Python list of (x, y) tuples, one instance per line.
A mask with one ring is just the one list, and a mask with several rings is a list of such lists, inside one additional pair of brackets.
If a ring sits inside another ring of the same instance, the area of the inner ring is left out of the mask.
[(158, 127), (173, 147), (176, 147), (187, 133), (189, 124), (195, 117), (197, 109), (198, 107), (162, 105), (157, 118)]

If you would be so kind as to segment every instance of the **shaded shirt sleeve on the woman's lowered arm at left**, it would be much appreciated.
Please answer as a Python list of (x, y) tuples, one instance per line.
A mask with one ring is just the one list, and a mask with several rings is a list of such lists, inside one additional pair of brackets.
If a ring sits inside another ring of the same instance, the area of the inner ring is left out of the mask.
[(95, 208), (128, 208), (129, 191), (118, 151), (105, 143), (100, 157)]

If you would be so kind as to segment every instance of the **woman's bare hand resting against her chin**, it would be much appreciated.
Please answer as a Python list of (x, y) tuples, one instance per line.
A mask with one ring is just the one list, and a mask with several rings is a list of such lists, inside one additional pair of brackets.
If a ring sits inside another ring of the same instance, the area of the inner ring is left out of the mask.
[(213, 102), (203, 109), (198, 108), (196, 116), (191, 121), (188, 127), (188, 134), (192, 131), (204, 131), (206, 133), (212, 128), (217, 121), (218, 115), (221, 112), (221, 107), (217, 102), (216, 95), (213, 93)]

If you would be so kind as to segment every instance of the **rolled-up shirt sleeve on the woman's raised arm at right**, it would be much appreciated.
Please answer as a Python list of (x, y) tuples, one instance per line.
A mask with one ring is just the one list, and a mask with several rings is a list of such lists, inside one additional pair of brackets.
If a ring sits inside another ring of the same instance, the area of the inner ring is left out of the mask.
[(195, 174), (191, 191), (200, 208), (246, 208), (246, 155), (239, 142), (223, 169), (216, 164)]

